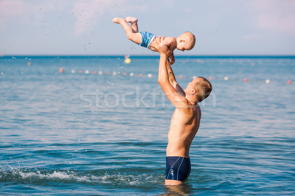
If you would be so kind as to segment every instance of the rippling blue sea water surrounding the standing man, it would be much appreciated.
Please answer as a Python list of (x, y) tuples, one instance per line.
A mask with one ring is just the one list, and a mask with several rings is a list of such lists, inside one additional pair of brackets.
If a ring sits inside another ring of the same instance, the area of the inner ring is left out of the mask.
[(294, 57), (176, 58), (180, 86), (213, 86), (176, 188), (164, 185), (174, 107), (159, 57), (131, 59), (0, 57), (1, 195), (295, 195)]

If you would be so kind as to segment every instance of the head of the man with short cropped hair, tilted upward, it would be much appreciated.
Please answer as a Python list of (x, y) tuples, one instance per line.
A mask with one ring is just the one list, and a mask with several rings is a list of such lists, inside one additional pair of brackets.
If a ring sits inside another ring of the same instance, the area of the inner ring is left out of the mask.
[(204, 77), (197, 77), (188, 83), (184, 93), (197, 103), (207, 98), (212, 91), (211, 83)]

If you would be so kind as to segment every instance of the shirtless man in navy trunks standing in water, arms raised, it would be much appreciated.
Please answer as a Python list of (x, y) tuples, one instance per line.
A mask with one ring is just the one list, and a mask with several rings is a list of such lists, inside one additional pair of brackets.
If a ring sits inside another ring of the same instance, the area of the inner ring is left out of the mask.
[(189, 148), (201, 120), (198, 102), (209, 96), (212, 86), (204, 77), (197, 77), (182, 90), (176, 82), (167, 54), (158, 47), (157, 41), (155, 47), (160, 52), (158, 82), (167, 98), (176, 106), (168, 133), (165, 185), (179, 185), (183, 184), (191, 170)]

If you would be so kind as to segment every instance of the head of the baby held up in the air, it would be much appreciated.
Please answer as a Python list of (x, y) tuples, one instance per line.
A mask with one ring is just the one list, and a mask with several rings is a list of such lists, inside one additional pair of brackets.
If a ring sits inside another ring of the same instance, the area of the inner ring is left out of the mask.
[(177, 46), (176, 48), (179, 50), (190, 50), (193, 49), (196, 43), (196, 38), (194, 34), (189, 31), (186, 31), (179, 35), (177, 38)]

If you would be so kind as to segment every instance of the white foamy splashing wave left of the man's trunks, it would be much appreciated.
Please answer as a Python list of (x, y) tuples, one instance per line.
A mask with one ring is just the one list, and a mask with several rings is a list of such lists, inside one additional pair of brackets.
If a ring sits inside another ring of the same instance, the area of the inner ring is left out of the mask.
[[(147, 170), (145, 169), (147, 172)], [(155, 186), (156, 184), (163, 184), (163, 172), (149, 172), (143, 173), (139, 171), (126, 171), (126, 169), (112, 169), (112, 170), (92, 170), (92, 171), (69, 171), (69, 170), (48, 170), (42, 168), (19, 168), (0, 167), (0, 181), (6, 182), (20, 182), (20, 183), (90, 183), (103, 185), (136, 185), (146, 186), (147, 184)]]

